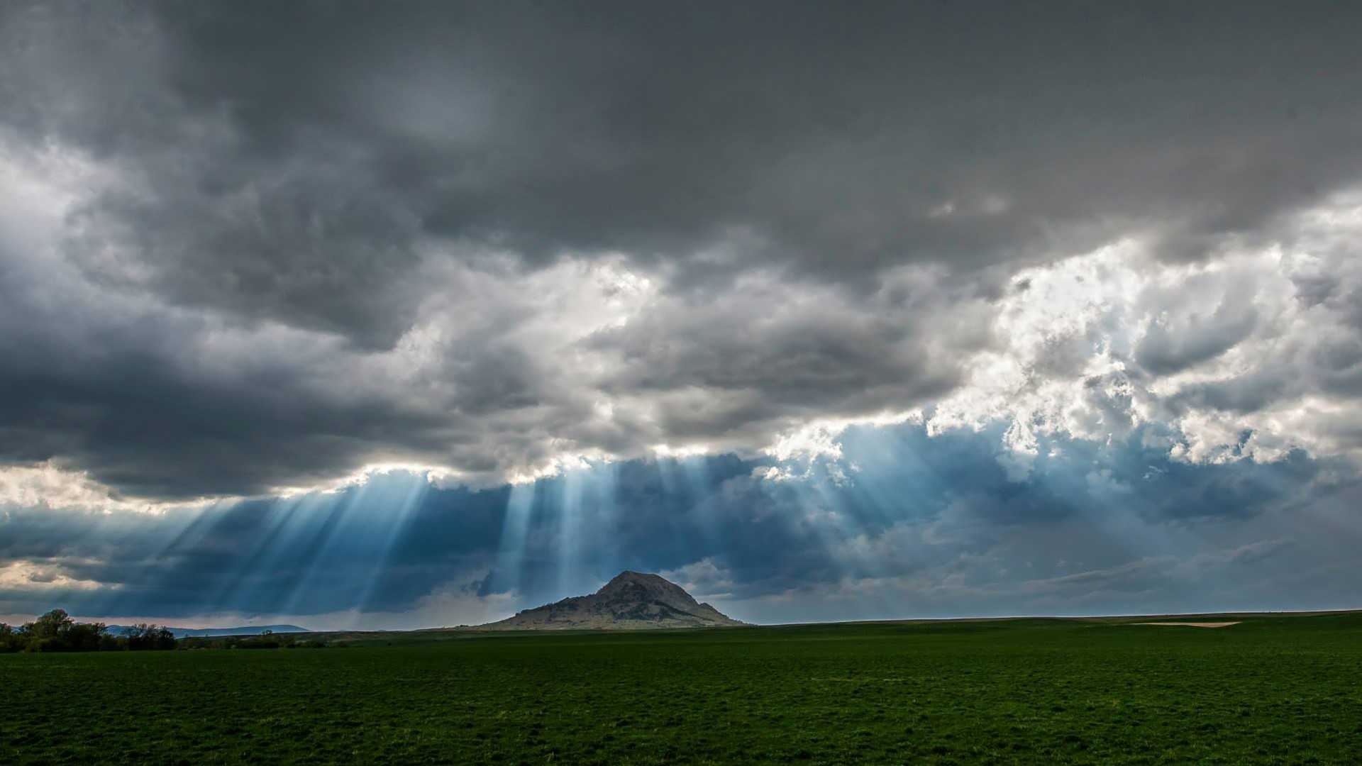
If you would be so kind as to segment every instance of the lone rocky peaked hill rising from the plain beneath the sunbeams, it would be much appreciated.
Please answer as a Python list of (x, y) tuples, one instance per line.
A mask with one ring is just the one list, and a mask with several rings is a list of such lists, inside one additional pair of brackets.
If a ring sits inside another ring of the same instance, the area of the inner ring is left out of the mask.
[(655, 574), (624, 571), (591, 596), (573, 596), (475, 630), (640, 630), (740, 627)]

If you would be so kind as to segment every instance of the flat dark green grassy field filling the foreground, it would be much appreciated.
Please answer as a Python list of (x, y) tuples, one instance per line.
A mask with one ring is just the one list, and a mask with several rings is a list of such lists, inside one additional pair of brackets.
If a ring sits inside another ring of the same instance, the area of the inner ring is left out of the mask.
[(376, 643), (0, 656), (0, 763), (1362, 762), (1358, 613)]

